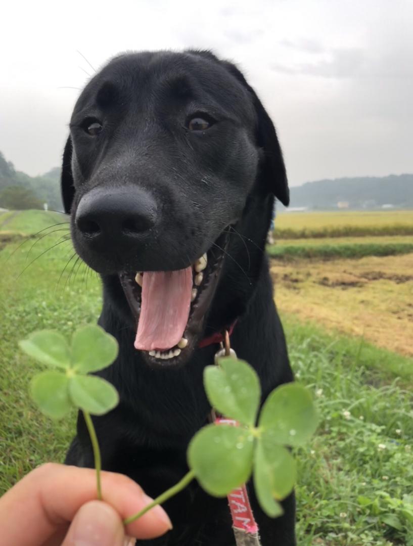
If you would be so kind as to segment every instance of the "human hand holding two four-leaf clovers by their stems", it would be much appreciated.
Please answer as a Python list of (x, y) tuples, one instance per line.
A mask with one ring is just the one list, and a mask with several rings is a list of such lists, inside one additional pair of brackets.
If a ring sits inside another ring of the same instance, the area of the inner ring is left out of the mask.
[(126, 476), (102, 472), (102, 490), (104, 502), (91, 468), (36, 468), (0, 498), (0, 546), (123, 546), (125, 533), (145, 539), (172, 529), (160, 506), (125, 529), (122, 520), (152, 501)]

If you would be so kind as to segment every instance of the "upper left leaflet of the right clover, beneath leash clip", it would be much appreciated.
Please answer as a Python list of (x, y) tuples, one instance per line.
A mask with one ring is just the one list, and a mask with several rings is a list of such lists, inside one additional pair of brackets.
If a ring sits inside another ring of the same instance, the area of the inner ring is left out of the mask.
[(219, 366), (206, 366), (204, 385), (216, 410), (243, 425), (255, 424), (261, 389), (256, 371), (244, 360), (223, 357)]

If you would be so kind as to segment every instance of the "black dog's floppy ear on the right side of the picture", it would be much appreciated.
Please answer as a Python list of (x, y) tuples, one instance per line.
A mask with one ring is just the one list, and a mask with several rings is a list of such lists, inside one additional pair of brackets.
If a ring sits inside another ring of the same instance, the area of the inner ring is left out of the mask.
[(263, 178), (268, 183), (268, 187), (270, 188), (270, 191), (274, 193), (275, 197), (279, 199), (283, 205), (287, 206), (288, 203), (290, 203), (287, 173), (274, 124), (265, 111), (264, 106), (261, 104), (261, 100), (259, 100), (257, 93), (247, 83), (240, 70), (238, 70), (234, 64), (227, 61), (223, 62), (223, 65), (251, 94), (252, 103), (257, 113), (258, 146), (260, 146), (264, 152), (264, 161), (262, 165)]

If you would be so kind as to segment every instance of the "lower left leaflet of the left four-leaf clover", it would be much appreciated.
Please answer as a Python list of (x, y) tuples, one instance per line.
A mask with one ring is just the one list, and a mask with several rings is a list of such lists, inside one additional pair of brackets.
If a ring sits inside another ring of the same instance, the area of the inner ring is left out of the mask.
[(70, 411), (68, 383), (67, 375), (57, 371), (46, 371), (33, 377), (31, 394), (46, 416), (61, 419)]

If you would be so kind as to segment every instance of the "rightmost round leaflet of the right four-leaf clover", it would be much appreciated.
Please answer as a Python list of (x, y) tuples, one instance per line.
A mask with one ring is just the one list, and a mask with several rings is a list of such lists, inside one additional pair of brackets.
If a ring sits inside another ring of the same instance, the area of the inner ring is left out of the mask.
[(302, 446), (315, 432), (317, 423), (309, 391), (287, 383), (273, 390), (265, 400), (258, 428), (279, 446)]

